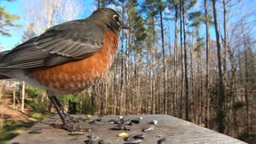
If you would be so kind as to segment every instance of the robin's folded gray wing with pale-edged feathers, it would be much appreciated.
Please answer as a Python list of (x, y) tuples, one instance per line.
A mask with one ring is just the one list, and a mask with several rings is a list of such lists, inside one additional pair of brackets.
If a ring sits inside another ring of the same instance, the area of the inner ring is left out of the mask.
[(56, 66), (87, 58), (101, 49), (102, 40), (102, 28), (91, 22), (65, 22), (4, 54), (0, 60), (0, 68)]

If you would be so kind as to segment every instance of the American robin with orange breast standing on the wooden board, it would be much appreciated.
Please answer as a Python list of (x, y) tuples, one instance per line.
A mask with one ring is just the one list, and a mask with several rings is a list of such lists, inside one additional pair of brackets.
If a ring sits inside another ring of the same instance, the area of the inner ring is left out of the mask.
[(118, 33), (128, 29), (109, 8), (86, 19), (52, 26), (45, 33), (0, 53), (0, 78), (18, 78), (46, 90), (62, 128), (74, 131), (56, 95), (85, 90), (104, 78), (118, 51)]

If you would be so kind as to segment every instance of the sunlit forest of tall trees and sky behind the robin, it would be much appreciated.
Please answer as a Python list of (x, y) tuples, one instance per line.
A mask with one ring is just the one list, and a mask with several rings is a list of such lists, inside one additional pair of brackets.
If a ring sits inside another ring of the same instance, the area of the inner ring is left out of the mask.
[[(70, 114), (170, 114), (256, 142), (255, 6), (254, 0), (1, 1), (0, 49), (98, 7), (113, 8), (131, 29), (119, 34), (118, 55), (102, 83), (58, 97)], [(13, 105), (21, 110), (47, 115), (53, 107), (46, 92), (14, 79), (1, 81), (0, 95), (8, 94), (18, 96)]]

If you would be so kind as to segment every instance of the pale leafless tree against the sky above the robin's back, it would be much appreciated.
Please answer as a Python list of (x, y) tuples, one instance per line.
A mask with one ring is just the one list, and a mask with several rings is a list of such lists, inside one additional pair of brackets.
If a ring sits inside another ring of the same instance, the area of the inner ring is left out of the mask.
[(42, 34), (50, 26), (78, 18), (82, 12), (82, 4), (72, 0), (26, 1), (26, 23), (33, 22), (35, 34)]

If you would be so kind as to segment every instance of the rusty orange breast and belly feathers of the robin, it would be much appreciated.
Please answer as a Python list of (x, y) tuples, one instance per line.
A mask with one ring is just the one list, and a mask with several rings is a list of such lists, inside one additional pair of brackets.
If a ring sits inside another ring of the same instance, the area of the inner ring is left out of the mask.
[(112, 30), (105, 32), (102, 50), (75, 62), (34, 70), (31, 77), (49, 90), (73, 93), (84, 90), (104, 78), (118, 51), (118, 36)]

